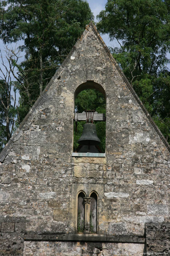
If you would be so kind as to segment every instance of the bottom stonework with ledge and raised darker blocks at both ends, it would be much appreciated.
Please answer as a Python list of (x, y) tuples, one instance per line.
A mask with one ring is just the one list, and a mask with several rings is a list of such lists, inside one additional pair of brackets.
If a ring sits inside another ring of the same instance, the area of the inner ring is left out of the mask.
[(25, 218), (0, 218), (0, 256), (170, 254), (170, 223), (146, 223), (145, 236), (25, 233)]

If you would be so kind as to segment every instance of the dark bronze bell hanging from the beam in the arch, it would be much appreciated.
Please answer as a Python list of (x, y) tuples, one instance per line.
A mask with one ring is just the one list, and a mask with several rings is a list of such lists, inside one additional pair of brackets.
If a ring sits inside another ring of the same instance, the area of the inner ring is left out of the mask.
[(100, 140), (96, 133), (95, 124), (87, 123), (83, 125), (83, 133), (78, 143), (81, 145), (97, 145), (100, 143)]

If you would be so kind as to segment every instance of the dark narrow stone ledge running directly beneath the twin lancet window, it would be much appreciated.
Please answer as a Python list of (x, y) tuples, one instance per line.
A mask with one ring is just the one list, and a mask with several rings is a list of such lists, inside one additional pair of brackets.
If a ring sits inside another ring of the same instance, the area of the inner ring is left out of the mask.
[(98, 234), (45, 234), (25, 233), (24, 240), (46, 240), (46, 241), (95, 241), (95, 242), (133, 242), (145, 244), (145, 237), (140, 236), (114, 236)]

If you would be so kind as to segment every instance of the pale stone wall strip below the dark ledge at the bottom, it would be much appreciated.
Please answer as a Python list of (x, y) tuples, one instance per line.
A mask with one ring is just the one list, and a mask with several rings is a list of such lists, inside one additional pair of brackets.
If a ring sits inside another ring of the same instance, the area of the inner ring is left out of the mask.
[(25, 241), (24, 256), (137, 256), (144, 244)]

